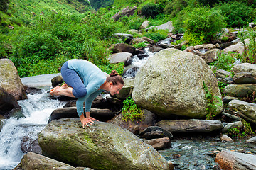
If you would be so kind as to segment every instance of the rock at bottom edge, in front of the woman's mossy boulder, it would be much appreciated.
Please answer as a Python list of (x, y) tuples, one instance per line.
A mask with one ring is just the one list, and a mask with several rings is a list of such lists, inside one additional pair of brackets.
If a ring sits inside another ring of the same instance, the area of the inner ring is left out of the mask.
[[(70, 166), (69, 164), (64, 164), (63, 162), (58, 162), (54, 159), (50, 159), (48, 157), (45, 157), (41, 154), (36, 154), (33, 152), (28, 152), (23, 156), (21, 159), (21, 163), (18, 164), (14, 168), (14, 170), (19, 169), (38, 169), (38, 170), (63, 170), (63, 169), (69, 169), (69, 170), (79, 170), (79, 168), (75, 168), (73, 166)], [(83, 168), (85, 170), (93, 170), (90, 168)]]

